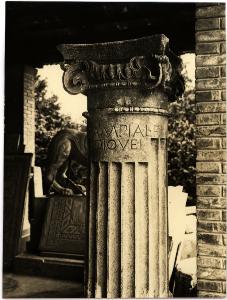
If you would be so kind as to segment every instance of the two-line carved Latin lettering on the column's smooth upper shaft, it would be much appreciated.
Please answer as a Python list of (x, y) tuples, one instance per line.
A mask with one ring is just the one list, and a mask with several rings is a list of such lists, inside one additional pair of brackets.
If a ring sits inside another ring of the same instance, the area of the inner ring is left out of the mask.
[(160, 125), (119, 124), (95, 128), (95, 148), (102, 150), (140, 150), (142, 140), (160, 133)]

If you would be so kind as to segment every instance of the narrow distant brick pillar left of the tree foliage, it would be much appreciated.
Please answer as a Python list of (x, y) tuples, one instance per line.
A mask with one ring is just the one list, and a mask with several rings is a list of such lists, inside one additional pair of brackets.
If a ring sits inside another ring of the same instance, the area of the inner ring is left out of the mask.
[(36, 70), (30, 66), (24, 68), (24, 152), (33, 153), (35, 159), (35, 100), (34, 84)]

